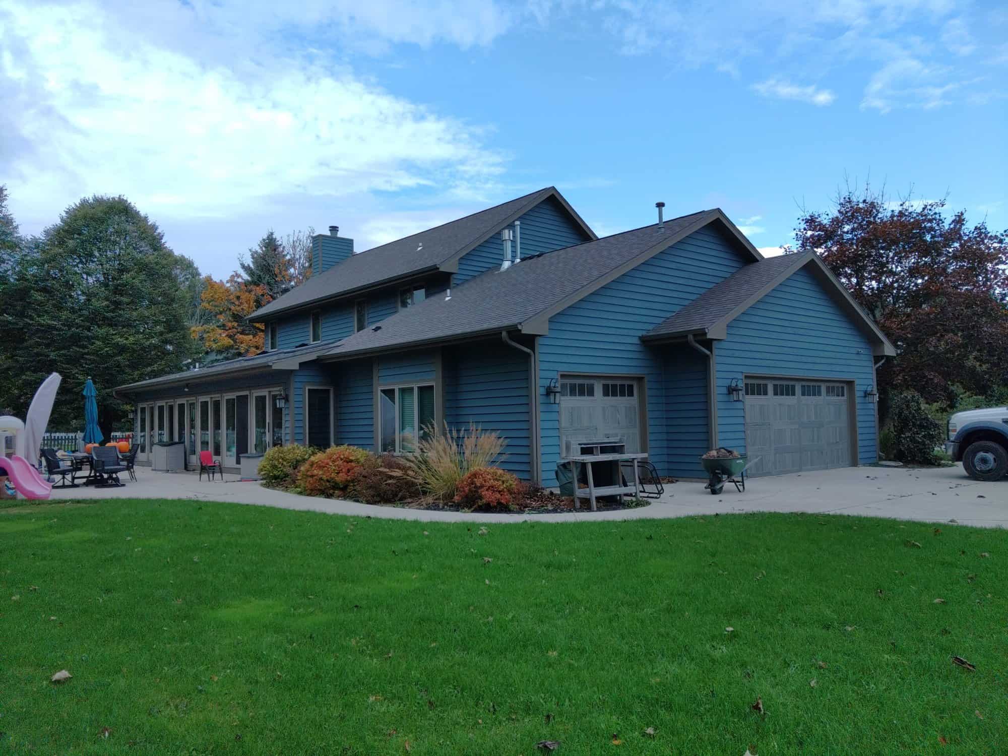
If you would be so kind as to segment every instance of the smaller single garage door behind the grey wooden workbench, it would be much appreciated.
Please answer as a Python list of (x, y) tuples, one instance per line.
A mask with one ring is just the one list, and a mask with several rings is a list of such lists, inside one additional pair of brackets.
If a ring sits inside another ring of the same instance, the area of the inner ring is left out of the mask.
[(560, 378), (560, 454), (578, 442), (622, 440), (640, 452), (640, 387), (634, 378)]

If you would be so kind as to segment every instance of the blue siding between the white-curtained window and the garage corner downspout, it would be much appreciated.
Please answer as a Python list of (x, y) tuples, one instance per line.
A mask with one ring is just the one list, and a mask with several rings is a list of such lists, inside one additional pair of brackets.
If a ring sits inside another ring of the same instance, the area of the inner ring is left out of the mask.
[(466, 428), (475, 422), (506, 442), (500, 464), (530, 478), (528, 357), (503, 343), (482, 343), (444, 352), (445, 421)]

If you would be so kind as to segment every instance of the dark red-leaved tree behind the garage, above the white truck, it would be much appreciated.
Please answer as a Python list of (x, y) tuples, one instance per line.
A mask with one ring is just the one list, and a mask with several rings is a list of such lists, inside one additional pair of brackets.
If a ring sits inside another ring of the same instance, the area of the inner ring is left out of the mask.
[(888, 202), (848, 187), (828, 213), (805, 212), (790, 251), (815, 250), (896, 347), (882, 389), (952, 402), (953, 385), (1008, 385), (1008, 232), (969, 226), (946, 202)]

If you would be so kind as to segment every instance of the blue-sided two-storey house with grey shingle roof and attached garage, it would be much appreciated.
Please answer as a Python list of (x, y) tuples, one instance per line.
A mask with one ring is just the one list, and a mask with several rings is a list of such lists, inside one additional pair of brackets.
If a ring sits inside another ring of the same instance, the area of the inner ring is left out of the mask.
[(140, 459), (182, 440), (236, 468), (276, 445), (410, 454), (475, 422), (503, 467), (556, 485), (586, 440), (662, 475), (724, 446), (754, 474), (877, 459), (875, 369), (895, 352), (813, 253), (763, 259), (720, 210), (599, 239), (553, 187), (354, 253), (251, 316), (258, 355), (121, 386)]

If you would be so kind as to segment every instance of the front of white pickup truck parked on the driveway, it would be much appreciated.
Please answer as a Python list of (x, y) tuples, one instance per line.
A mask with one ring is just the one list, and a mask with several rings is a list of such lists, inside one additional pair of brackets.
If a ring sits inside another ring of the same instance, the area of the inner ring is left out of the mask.
[(957, 412), (949, 418), (948, 452), (978, 481), (1008, 475), (1008, 407)]

